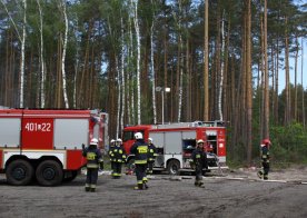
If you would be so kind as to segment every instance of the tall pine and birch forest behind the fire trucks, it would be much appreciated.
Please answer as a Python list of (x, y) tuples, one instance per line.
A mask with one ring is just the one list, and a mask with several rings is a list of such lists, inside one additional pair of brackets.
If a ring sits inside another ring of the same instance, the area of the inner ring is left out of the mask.
[(0, 0), (0, 106), (99, 108), (110, 138), (224, 120), (229, 165), (263, 138), (307, 164), (306, 20), (300, 0)]

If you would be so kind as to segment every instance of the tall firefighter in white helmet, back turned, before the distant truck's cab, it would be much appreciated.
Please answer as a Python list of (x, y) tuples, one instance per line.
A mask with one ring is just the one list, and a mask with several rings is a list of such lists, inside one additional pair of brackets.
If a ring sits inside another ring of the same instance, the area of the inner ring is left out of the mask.
[(136, 142), (132, 145), (130, 152), (135, 155), (137, 186), (135, 190), (148, 188), (148, 179), (146, 177), (146, 169), (148, 164), (148, 143), (145, 142), (141, 132), (135, 133)]

